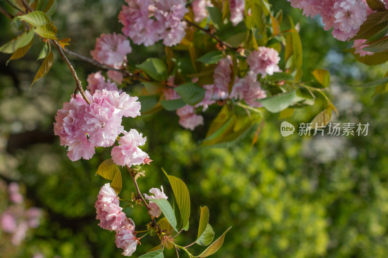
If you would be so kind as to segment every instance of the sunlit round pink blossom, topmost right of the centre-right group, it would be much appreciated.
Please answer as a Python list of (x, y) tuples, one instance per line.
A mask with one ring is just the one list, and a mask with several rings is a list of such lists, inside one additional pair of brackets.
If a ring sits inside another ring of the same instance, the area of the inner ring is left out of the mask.
[(274, 48), (265, 46), (259, 46), (259, 49), (251, 52), (247, 59), (249, 69), (256, 75), (261, 74), (262, 77), (281, 72), (279, 61), (279, 53)]

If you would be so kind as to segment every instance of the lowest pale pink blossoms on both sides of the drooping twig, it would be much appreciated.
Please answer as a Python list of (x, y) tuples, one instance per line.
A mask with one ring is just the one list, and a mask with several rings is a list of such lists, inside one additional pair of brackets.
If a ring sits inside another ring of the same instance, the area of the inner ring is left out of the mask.
[[(167, 196), (158, 188), (151, 188), (150, 193), (154, 196), (146, 196), (146, 199), (167, 199)], [(110, 183), (104, 184), (98, 195), (95, 204), (97, 217), (100, 221), (98, 226), (110, 231), (116, 232), (116, 246), (124, 249), (122, 255), (131, 256), (136, 250), (136, 246), (140, 243), (140, 239), (136, 238), (135, 223), (132, 219), (128, 218), (123, 212), (123, 208), (120, 207), (119, 197), (114, 192)], [(161, 209), (155, 202), (149, 201), (150, 210), (148, 213), (152, 218), (159, 217), (162, 214)]]

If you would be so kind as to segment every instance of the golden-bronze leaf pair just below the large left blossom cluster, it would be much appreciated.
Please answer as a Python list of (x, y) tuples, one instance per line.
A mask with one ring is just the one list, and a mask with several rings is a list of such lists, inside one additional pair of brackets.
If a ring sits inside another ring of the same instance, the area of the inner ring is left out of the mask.
[(114, 189), (116, 194), (118, 195), (121, 192), (121, 188), (123, 185), (123, 182), (121, 179), (121, 171), (117, 167), (117, 165), (114, 164), (112, 159), (107, 159), (103, 161), (98, 166), (96, 175), (99, 175), (108, 180), (112, 180), (111, 187)]

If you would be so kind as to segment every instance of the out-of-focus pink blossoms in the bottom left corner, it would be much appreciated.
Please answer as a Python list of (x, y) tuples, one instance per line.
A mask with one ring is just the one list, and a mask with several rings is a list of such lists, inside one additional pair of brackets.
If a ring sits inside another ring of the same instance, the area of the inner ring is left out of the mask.
[(11, 203), (0, 213), (1, 230), (11, 234), (11, 243), (19, 245), (25, 238), (29, 228), (37, 228), (43, 215), (41, 209), (31, 207), (24, 208), (24, 197), (20, 194), (19, 184), (11, 182), (8, 187), (6, 183), (0, 181), (0, 188), (6, 188), (8, 199)]

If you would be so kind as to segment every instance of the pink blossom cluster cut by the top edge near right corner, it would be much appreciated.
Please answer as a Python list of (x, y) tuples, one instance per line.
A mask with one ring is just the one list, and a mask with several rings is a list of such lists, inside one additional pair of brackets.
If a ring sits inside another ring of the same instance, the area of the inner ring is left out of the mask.
[(320, 14), (324, 30), (334, 27), (332, 34), (346, 41), (354, 37), (367, 15), (373, 11), (362, 0), (288, 0), (294, 8), (303, 9), (306, 16)]

